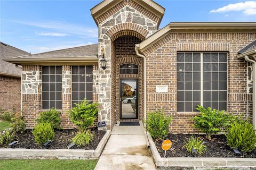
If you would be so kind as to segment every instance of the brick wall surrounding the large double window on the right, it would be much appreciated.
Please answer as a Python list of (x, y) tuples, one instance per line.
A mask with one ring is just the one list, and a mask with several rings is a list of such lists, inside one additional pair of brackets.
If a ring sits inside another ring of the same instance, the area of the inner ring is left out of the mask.
[[(177, 52), (228, 52), (228, 112), (249, 117), (252, 104), (247, 94), (247, 62), (237, 52), (256, 39), (256, 33), (169, 33), (143, 51), (147, 57), (147, 111), (165, 109), (173, 120), (173, 133), (194, 133), (198, 113), (177, 113)], [(168, 85), (167, 93), (156, 93), (156, 85)]]

